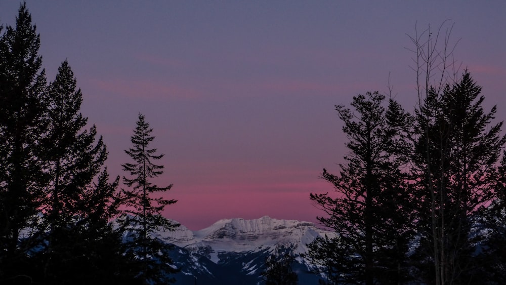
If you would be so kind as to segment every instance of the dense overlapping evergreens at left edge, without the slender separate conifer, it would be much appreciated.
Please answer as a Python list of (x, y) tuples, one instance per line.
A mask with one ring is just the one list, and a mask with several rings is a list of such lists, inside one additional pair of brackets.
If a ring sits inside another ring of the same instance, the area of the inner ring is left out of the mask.
[(0, 283), (136, 283), (111, 223), (119, 177), (96, 177), (105, 145), (82, 130), (66, 61), (47, 86), (35, 31), (25, 4), (16, 28), (0, 27)]

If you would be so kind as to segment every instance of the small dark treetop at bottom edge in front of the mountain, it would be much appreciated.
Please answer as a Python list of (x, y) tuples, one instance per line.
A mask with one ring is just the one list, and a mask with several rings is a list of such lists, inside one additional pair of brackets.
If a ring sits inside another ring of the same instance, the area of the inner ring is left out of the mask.
[(265, 271), (261, 273), (266, 285), (297, 285), (299, 277), (291, 267), (294, 261), (291, 249), (277, 245), (274, 253), (266, 257)]

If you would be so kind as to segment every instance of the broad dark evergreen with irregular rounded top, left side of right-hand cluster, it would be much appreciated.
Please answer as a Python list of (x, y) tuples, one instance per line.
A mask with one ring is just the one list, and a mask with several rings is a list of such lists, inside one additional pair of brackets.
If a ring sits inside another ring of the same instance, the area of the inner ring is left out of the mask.
[(410, 116), (393, 100), (385, 110), (384, 100), (377, 92), (354, 97), (351, 105), (357, 113), (336, 106), (351, 153), (345, 156), (347, 163), (340, 165), (339, 176), (323, 170), (322, 177), (334, 186), (336, 197), (311, 194), (328, 215), (318, 220), (338, 236), (317, 239), (310, 249), (320, 251), (331, 245), (335, 253), (330, 256), (340, 260), (329, 264), (340, 265), (328, 271), (340, 270), (334, 276), (343, 283), (402, 282), (407, 278), (405, 253), (412, 233), (408, 227), (411, 216), (406, 211), (406, 175), (400, 169), (406, 163), (404, 132)]

